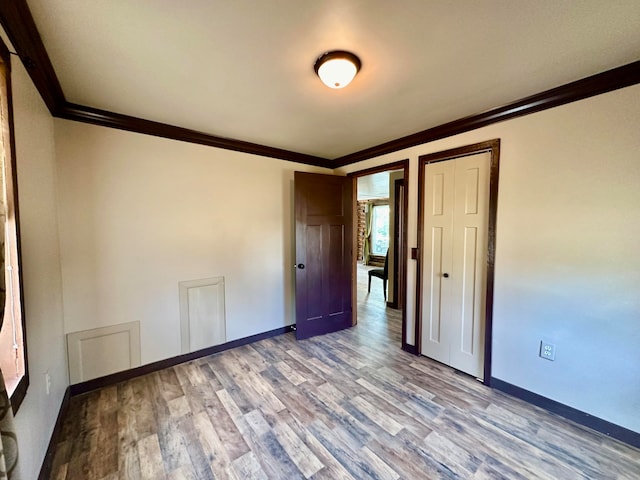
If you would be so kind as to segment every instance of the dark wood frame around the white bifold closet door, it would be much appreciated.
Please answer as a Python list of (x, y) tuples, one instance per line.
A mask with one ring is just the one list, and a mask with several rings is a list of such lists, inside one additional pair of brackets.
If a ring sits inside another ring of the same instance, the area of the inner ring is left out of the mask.
[(489, 167), (489, 226), (487, 231), (487, 282), (485, 292), (485, 330), (484, 330), (484, 383), (491, 386), (491, 340), (493, 338), (493, 286), (495, 277), (496, 254), (496, 219), (498, 212), (498, 177), (500, 171), (500, 139), (452, 148), (441, 152), (430, 153), (418, 157), (418, 264), (416, 265), (416, 331), (415, 345), (417, 353), (421, 354), (422, 342), (422, 255), (424, 250), (424, 174), (428, 164), (454, 160), (460, 157), (489, 152), (491, 163)]

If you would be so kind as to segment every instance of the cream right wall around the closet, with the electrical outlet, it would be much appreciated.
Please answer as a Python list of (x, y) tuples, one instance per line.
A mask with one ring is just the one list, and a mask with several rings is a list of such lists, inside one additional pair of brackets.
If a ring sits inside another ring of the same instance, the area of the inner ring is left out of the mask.
[[(339, 169), (501, 138), (494, 296), (496, 378), (640, 432), (640, 85)], [(409, 252), (407, 252), (409, 254)], [(408, 261), (414, 343), (416, 262)], [(556, 360), (538, 357), (540, 340)]]

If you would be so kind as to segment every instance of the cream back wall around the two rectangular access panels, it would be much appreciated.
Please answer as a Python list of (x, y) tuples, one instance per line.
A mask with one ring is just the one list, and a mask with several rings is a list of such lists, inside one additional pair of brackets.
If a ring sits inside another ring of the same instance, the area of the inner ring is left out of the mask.
[(326, 169), (55, 120), (65, 332), (140, 321), (181, 353), (178, 282), (225, 277), (227, 341), (293, 316), (293, 172)]

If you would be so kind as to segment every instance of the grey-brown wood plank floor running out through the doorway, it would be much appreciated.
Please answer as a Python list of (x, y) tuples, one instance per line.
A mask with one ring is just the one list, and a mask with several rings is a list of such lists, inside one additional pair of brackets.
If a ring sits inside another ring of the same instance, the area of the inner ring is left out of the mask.
[(640, 478), (640, 450), (400, 350), (378, 279), (358, 303), (346, 331), (72, 398), (52, 478)]

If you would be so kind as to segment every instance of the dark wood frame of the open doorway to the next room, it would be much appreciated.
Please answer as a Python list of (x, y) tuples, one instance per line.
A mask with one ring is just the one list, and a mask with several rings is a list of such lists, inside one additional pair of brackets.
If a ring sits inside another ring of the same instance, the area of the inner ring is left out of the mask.
[[(403, 212), (402, 212), (402, 229), (400, 232), (400, 247), (402, 249), (402, 251), (404, 252), (404, 259), (403, 261), (399, 261), (397, 262), (397, 267), (398, 267), (398, 278), (402, 278), (402, 284), (401, 287), (403, 289), (402, 294), (400, 295), (401, 298), (401, 304), (398, 305), (399, 307), (402, 308), (402, 345), (401, 348), (407, 352), (411, 352), (411, 353), (416, 353), (415, 352), (415, 347), (413, 345), (409, 345), (407, 343), (407, 335), (409, 332), (407, 332), (407, 291), (406, 291), (406, 285), (407, 285), (407, 223), (408, 223), (408, 210), (409, 210), (409, 159), (405, 159), (405, 160), (399, 160), (397, 162), (392, 162), (392, 163), (386, 163), (384, 165), (380, 165), (377, 167), (371, 167), (371, 168), (366, 168), (364, 170), (358, 170), (356, 172), (351, 172), (349, 174), (347, 174), (347, 177), (351, 178), (353, 181), (353, 212), (354, 212), (354, 219), (356, 218), (356, 210), (357, 210), (357, 206), (358, 206), (358, 199), (357, 199), (357, 182), (358, 182), (358, 178), (359, 177), (365, 177), (367, 175), (372, 175), (374, 173), (380, 173), (380, 172), (387, 172), (387, 171), (391, 171), (391, 170), (402, 170), (404, 172), (404, 198), (403, 198)], [(353, 245), (357, 245), (357, 236), (358, 236), (358, 229), (357, 229), (357, 222), (354, 221), (353, 222)], [(396, 249), (398, 250), (398, 249)], [(351, 271), (352, 271), (352, 275), (351, 275), (351, 281), (352, 281), (352, 292), (353, 292), (353, 324), (355, 325), (357, 323), (357, 312), (358, 312), (358, 300), (357, 300), (357, 295), (358, 295), (358, 271), (357, 271), (357, 255), (353, 255), (353, 260), (352, 260), (352, 267), (351, 267)], [(398, 284), (398, 280), (396, 279), (396, 281), (394, 282), (394, 285)], [(394, 296), (394, 301), (396, 300), (396, 297)]]

